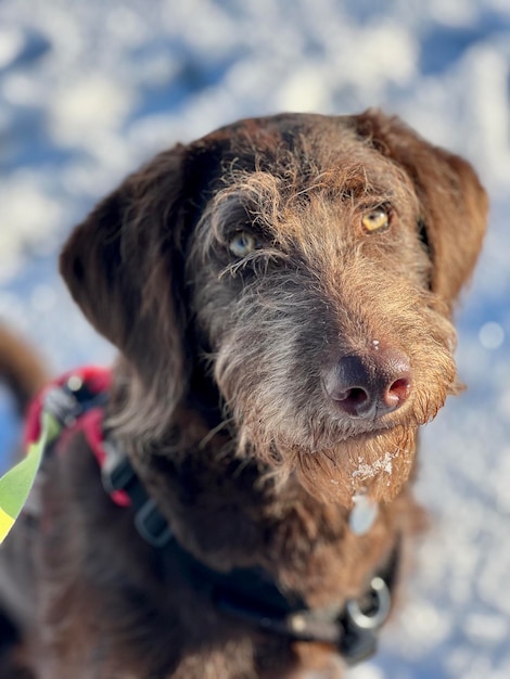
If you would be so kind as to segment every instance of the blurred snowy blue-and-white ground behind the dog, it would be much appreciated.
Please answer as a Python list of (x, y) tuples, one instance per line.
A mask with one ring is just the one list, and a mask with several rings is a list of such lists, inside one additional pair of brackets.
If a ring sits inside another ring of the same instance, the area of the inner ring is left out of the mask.
[[(54, 371), (107, 362), (56, 273), (94, 202), (235, 118), (380, 106), (467, 156), (490, 230), (458, 313), (469, 390), (424, 432), (433, 527), (349, 679), (510, 677), (510, 1), (1, 0), (0, 320)], [(0, 466), (18, 435), (0, 390)]]

